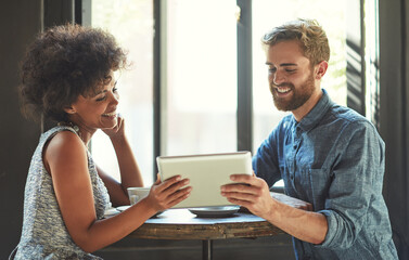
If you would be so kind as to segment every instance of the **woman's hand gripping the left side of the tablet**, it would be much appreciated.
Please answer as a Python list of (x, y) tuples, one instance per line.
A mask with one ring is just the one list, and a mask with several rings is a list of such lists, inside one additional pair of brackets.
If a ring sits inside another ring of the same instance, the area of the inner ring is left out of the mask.
[(144, 199), (154, 207), (155, 211), (168, 209), (189, 197), (192, 187), (186, 186), (188, 184), (189, 179), (182, 180), (180, 176), (172, 177), (164, 182), (157, 176), (156, 182)]

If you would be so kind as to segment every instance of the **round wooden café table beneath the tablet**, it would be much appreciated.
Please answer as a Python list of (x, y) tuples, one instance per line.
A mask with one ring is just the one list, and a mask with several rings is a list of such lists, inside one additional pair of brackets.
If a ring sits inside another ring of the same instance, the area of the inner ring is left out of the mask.
[(266, 220), (245, 212), (226, 218), (199, 218), (188, 209), (168, 209), (149, 219), (129, 236), (148, 239), (203, 240), (203, 259), (213, 258), (213, 240), (274, 236), (284, 232)]

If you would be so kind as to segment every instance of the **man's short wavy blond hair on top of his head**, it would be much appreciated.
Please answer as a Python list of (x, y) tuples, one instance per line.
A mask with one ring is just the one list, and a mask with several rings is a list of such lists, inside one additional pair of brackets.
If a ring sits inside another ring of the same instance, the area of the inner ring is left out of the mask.
[(286, 40), (299, 41), (311, 66), (330, 61), (330, 46), (325, 31), (315, 20), (297, 20), (278, 26), (261, 38), (261, 43), (268, 48)]

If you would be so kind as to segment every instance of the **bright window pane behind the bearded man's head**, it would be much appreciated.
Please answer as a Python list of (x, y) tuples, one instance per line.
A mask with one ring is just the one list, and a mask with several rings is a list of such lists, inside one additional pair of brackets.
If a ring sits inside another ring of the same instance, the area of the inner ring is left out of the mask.
[[(345, 1), (328, 0), (256, 0), (253, 1), (253, 104), (254, 151), (286, 113), (277, 110), (267, 80), (266, 56), (260, 39), (265, 32), (287, 21), (315, 18), (323, 27), (330, 41), (331, 57), (321, 87), (331, 99), (346, 105), (346, 12)], [(358, 26), (358, 25), (357, 25)]]

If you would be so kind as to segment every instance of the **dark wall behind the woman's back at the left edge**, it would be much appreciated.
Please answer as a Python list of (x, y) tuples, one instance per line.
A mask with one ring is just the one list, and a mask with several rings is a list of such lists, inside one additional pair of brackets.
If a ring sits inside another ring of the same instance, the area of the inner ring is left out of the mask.
[(0, 8), (0, 259), (16, 246), (23, 219), (23, 195), (40, 129), (20, 113), (18, 61), (41, 28), (40, 0), (13, 0)]

